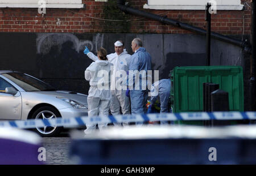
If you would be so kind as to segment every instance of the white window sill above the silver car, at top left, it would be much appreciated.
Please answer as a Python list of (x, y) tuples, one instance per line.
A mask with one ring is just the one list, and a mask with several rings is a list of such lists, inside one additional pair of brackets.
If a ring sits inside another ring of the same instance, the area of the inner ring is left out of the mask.
[(82, 0), (0, 0), (0, 7), (38, 8), (42, 3), (46, 8), (84, 8)]

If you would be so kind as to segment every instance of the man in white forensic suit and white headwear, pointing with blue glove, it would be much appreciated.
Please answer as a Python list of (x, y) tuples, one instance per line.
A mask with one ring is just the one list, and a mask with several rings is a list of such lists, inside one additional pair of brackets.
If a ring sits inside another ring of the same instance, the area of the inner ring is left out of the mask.
[[(114, 65), (111, 80), (112, 102), (110, 105), (110, 111), (113, 115), (121, 114), (121, 107), (122, 114), (130, 114), (130, 100), (129, 97), (125, 95), (125, 92), (127, 88), (126, 76), (127, 71), (129, 70), (131, 55), (127, 54), (121, 40), (116, 41), (114, 43), (114, 47), (115, 53), (107, 55), (108, 61)], [(84, 50), (84, 54), (88, 55), (88, 57), (93, 61), (98, 60), (98, 57), (90, 52), (87, 47)]]

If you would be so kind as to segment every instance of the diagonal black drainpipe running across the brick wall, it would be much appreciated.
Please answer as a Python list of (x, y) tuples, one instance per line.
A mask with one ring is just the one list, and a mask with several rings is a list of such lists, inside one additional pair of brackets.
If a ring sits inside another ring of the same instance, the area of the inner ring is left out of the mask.
[[(188, 31), (199, 33), (200, 35), (205, 36), (207, 34), (207, 32), (204, 29), (197, 28), (197, 27), (194, 27), (192, 25), (185, 24), (185, 23), (180, 23), (176, 20), (172, 20), (172, 19), (169, 19), (169, 18), (166, 18), (166, 17), (163, 17), (163, 16), (151, 14), (151, 13), (148, 13), (148, 12), (145, 12), (145, 11), (140, 11), (138, 9), (125, 6), (125, 0), (117, 0), (117, 6), (122, 11), (133, 14), (133, 15), (143, 16), (144, 18), (156, 20), (158, 22), (162, 22), (162, 23), (165, 23), (165, 24), (171, 24), (171, 25), (174, 25), (175, 27), (180, 27), (180, 28), (183, 28), (183, 29), (187, 29)], [(241, 41), (241, 40), (238, 40), (236, 38), (224, 36), (224, 35), (221, 35), (221, 34), (216, 33), (216, 32), (211, 32), (211, 36), (213, 38), (216, 38), (217, 40), (225, 41), (225, 42), (228, 42), (230, 44), (240, 46), (240, 47), (243, 48), (244, 51), (246, 51), (246, 53), (251, 54), (251, 45), (247, 41)]]

